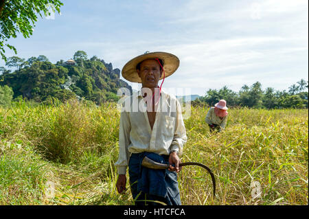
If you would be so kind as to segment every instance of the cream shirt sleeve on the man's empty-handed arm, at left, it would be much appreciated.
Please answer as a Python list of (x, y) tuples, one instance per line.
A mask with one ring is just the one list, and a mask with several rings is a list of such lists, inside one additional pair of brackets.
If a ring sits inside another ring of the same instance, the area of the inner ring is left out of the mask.
[(118, 174), (126, 174), (128, 167), (129, 152), (128, 146), (130, 145), (130, 117), (129, 113), (122, 111), (120, 114), (119, 124), (119, 157), (115, 163)]

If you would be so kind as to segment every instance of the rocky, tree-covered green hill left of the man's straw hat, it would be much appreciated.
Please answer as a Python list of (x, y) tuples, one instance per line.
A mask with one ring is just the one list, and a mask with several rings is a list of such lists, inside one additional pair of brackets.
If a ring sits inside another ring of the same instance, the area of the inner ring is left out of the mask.
[(77, 51), (73, 59), (60, 60), (53, 64), (45, 56), (23, 60), (13, 56), (6, 62), (16, 71), (4, 69), (0, 85), (8, 85), (14, 91), (14, 98), (26, 98), (45, 102), (49, 97), (61, 101), (78, 97), (100, 104), (106, 100), (117, 100), (117, 90), (132, 88), (119, 78), (120, 70), (111, 63), (93, 56), (88, 59), (84, 51)]

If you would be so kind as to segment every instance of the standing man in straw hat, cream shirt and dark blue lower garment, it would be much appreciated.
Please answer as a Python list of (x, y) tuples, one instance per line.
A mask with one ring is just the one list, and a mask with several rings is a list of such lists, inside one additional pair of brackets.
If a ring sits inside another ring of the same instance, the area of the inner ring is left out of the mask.
[[(178, 100), (158, 86), (160, 79), (164, 81), (178, 67), (176, 56), (152, 52), (133, 58), (122, 69), (126, 80), (142, 84), (137, 95), (124, 101), (119, 125), (119, 158), (115, 163), (117, 191), (125, 190), (128, 167), (135, 205), (181, 205), (176, 172), (181, 171), (179, 156), (187, 136)], [(141, 166), (144, 157), (170, 163), (170, 168), (144, 168)]]

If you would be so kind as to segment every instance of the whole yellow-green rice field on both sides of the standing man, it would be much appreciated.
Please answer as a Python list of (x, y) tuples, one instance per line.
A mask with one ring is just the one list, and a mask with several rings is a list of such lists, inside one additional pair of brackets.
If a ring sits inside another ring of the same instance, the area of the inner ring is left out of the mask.
[[(308, 109), (229, 110), (209, 133), (208, 108), (192, 107), (179, 174), (183, 205), (308, 205)], [(16, 104), (0, 108), (0, 205), (131, 205), (115, 189), (119, 112), (115, 104)], [(253, 182), (260, 196), (253, 198)], [(52, 191), (52, 195), (50, 195)]]

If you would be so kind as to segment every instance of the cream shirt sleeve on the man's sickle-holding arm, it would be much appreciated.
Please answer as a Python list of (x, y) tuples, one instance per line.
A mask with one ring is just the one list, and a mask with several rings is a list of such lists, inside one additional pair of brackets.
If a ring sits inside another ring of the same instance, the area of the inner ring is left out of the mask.
[(181, 156), (181, 154), (183, 154), (183, 146), (185, 142), (187, 142), (185, 124), (183, 122), (183, 115), (181, 114), (181, 105), (177, 101), (174, 138), (170, 146), (170, 151), (176, 150), (179, 153), (179, 156)]

